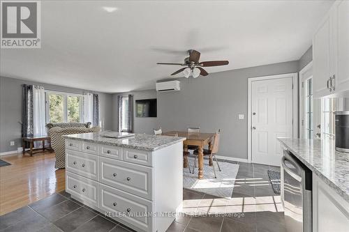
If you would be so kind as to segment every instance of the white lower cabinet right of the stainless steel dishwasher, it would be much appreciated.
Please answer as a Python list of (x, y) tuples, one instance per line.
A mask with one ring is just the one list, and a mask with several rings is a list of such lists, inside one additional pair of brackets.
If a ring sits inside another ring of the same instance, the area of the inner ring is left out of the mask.
[(313, 174), (313, 232), (329, 231), (349, 231), (349, 203)]

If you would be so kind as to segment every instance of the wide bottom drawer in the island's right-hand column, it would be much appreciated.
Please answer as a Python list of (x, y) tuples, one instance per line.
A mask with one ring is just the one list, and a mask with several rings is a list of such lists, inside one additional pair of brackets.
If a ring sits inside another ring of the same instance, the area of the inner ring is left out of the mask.
[(117, 219), (122, 219), (143, 231), (151, 232), (152, 217), (144, 215), (151, 215), (151, 201), (103, 184), (100, 184), (100, 193), (101, 210), (112, 212)]

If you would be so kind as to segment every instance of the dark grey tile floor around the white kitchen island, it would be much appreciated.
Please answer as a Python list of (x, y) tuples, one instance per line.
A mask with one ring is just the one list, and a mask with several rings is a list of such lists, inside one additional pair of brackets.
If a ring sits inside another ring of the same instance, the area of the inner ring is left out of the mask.
[[(239, 163), (232, 199), (184, 190), (186, 215), (168, 232), (285, 231), (280, 196), (260, 164)], [(132, 231), (60, 192), (0, 217), (0, 231)]]

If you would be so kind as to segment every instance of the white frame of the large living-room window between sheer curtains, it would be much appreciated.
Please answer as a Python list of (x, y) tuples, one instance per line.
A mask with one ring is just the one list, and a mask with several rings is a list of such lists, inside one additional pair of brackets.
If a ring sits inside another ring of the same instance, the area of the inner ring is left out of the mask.
[(78, 94), (78, 93), (68, 93), (68, 92), (61, 92), (61, 91), (50, 91), (50, 90), (45, 90), (45, 98), (46, 98), (46, 123), (50, 123), (50, 98), (48, 98), (49, 94), (57, 94), (57, 95), (64, 95), (64, 104), (63, 104), (63, 122), (62, 123), (68, 123), (68, 97), (80, 97), (81, 102), (80, 102), (80, 123), (84, 120), (84, 95)]

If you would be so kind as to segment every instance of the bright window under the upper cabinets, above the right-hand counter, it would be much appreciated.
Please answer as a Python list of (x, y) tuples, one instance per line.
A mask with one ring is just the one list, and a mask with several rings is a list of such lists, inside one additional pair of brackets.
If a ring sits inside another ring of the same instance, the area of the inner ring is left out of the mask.
[(334, 111), (336, 111), (336, 99), (321, 100), (321, 128), (324, 137), (334, 137)]

